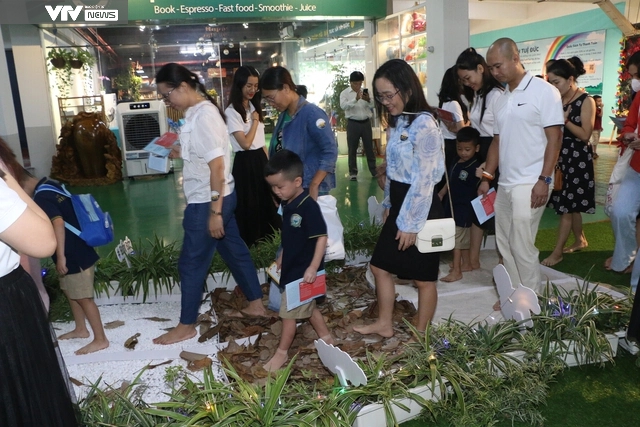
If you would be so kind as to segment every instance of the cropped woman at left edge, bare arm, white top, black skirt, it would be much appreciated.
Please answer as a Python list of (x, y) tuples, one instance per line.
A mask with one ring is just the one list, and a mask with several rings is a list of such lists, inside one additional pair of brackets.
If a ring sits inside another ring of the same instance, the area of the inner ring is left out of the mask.
[(68, 375), (20, 253), (56, 249), (47, 215), (0, 169), (0, 425), (77, 426)]

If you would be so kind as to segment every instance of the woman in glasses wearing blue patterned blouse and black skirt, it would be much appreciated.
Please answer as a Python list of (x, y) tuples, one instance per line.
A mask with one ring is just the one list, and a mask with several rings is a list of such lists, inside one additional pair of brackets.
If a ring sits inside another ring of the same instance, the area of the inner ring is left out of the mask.
[(444, 139), (415, 72), (402, 60), (384, 63), (373, 77), (380, 117), (390, 127), (387, 142), (385, 223), (371, 257), (379, 316), (356, 327), (361, 334), (393, 336), (395, 284), (392, 274), (412, 279), (418, 288), (416, 327), (424, 331), (438, 302), (439, 254), (420, 253), (418, 231), (427, 218), (441, 218), (434, 186), (444, 174)]

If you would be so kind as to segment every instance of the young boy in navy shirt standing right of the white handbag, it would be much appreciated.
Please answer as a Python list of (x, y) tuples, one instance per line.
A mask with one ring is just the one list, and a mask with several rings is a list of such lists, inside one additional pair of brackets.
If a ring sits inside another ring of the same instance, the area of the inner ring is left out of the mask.
[[(453, 265), (449, 274), (441, 278), (443, 282), (455, 282), (462, 279), (463, 271), (471, 271), (469, 259), (470, 235), (473, 224), (474, 212), (471, 200), (478, 197), (478, 184), (480, 178), (476, 176), (476, 168), (480, 166), (477, 153), (480, 149), (480, 133), (466, 126), (460, 129), (456, 135), (457, 160), (448, 165), (449, 186), (451, 187), (451, 201), (453, 204), (453, 217), (456, 221), (456, 245), (453, 249)], [(447, 194), (445, 186), (438, 196), (442, 199)], [(448, 203), (444, 203), (445, 209), (450, 210)]]

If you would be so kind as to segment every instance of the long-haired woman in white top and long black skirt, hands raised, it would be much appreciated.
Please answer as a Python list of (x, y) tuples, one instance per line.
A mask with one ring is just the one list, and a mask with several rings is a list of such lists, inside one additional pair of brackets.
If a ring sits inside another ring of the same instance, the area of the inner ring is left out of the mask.
[(272, 236), (281, 225), (271, 189), (264, 179), (267, 151), (259, 79), (255, 68), (238, 68), (233, 75), (229, 106), (225, 110), (235, 153), (232, 174), (238, 195), (236, 221), (247, 246)]

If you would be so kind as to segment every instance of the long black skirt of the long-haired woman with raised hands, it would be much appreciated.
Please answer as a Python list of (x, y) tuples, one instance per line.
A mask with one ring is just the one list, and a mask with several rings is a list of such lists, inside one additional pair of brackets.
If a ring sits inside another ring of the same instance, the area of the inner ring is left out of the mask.
[(240, 236), (247, 246), (272, 236), (274, 230), (280, 230), (282, 226), (271, 187), (264, 179), (266, 164), (267, 155), (261, 148), (238, 151), (233, 161), (232, 174), (238, 195), (235, 216)]

